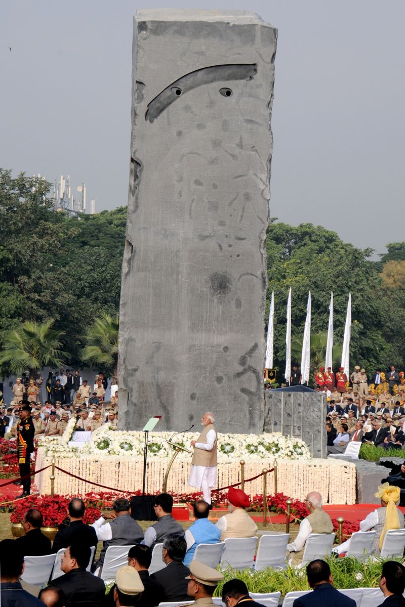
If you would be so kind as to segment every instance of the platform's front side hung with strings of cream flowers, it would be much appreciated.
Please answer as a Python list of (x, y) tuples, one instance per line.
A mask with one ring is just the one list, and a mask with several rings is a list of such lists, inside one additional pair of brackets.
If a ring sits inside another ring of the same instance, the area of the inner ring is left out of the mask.
[[(55, 454), (56, 468), (54, 491), (60, 495), (84, 495), (92, 491), (125, 490), (135, 492), (143, 484), (143, 458), (140, 456)], [(69, 456), (70, 455), (70, 456)], [(52, 463), (52, 453), (39, 447), (36, 469)], [(162, 491), (163, 480), (169, 458), (151, 456), (146, 473), (146, 493)], [(169, 491), (177, 494), (194, 493), (195, 487), (187, 484), (191, 459), (175, 459), (168, 478)], [(251, 496), (263, 493), (262, 470), (271, 470), (274, 458), (250, 458), (245, 462), (245, 491)], [(50, 493), (51, 468), (36, 475), (38, 490), (43, 495)], [(240, 482), (240, 461), (229, 458), (218, 464), (217, 488)], [(324, 503), (355, 504), (356, 466), (338, 459), (279, 459), (277, 461), (277, 492), (291, 498), (303, 500), (310, 491), (322, 493)], [(225, 490), (226, 492), (226, 490)], [(274, 494), (274, 472), (267, 474), (267, 493)]]

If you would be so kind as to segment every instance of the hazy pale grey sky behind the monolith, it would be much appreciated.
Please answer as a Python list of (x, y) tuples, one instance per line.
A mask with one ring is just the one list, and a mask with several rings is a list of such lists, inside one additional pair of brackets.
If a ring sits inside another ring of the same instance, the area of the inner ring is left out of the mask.
[(126, 205), (132, 16), (172, 6), (279, 30), (271, 215), (379, 252), (405, 240), (404, 0), (3, 0), (0, 166), (70, 174), (97, 211)]

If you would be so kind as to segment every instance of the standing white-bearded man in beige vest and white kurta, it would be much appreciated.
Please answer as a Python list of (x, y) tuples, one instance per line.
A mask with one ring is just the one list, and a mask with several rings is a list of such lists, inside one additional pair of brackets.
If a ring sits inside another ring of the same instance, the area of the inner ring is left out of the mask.
[(211, 504), (211, 488), (217, 481), (217, 429), (213, 413), (204, 413), (201, 419), (204, 427), (196, 441), (191, 441), (194, 454), (188, 484), (203, 492), (203, 500)]

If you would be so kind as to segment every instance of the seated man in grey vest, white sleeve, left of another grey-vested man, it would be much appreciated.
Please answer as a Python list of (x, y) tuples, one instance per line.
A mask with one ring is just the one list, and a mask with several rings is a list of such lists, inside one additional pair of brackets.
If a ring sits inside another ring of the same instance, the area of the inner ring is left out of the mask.
[(97, 533), (97, 539), (103, 541), (103, 549), (100, 557), (94, 565), (94, 569), (104, 563), (107, 548), (109, 546), (125, 546), (126, 544), (139, 544), (143, 540), (143, 531), (130, 514), (131, 505), (125, 498), (118, 498), (112, 504), (112, 521), (106, 523), (100, 517), (93, 527)]

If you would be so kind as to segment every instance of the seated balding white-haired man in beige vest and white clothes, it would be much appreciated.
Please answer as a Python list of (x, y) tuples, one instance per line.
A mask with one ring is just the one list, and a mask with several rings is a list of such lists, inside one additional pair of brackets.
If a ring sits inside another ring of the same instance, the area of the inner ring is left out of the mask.
[[(299, 532), (293, 542), (287, 544), (287, 557), (290, 565), (299, 565), (304, 555), (305, 542), (311, 533), (332, 533), (333, 523), (330, 516), (322, 510), (322, 495), (311, 491), (305, 499), (305, 506), (310, 514), (299, 524)], [(290, 553), (290, 554), (288, 554)]]

